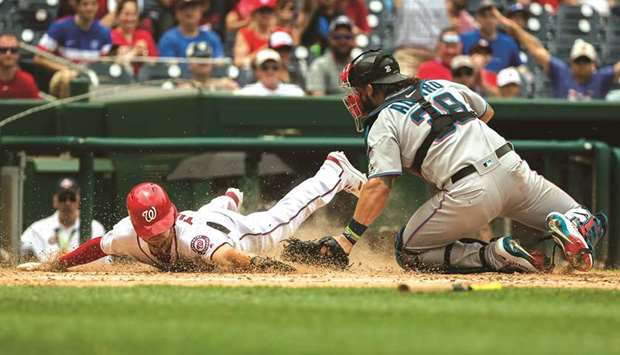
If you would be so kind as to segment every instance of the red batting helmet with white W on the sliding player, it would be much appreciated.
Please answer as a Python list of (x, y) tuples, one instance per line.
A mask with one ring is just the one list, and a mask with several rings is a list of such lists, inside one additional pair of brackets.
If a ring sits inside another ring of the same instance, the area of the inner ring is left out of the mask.
[(127, 211), (133, 228), (144, 240), (172, 228), (177, 215), (166, 191), (152, 182), (143, 182), (129, 191)]

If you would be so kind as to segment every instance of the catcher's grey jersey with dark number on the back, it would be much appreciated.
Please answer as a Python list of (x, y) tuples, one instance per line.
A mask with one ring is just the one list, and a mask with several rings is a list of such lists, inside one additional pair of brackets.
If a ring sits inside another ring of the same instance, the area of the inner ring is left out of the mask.
[[(417, 150), (431, 129), (431, 117), (413, 99), (415, 86), (388, 98), (368, 132), (369, 178), (401, 175), (411, 170)], [(422, 95), (440, 113), (474, 111), (482, 117), (486, 101), (464, 85), (427, 80)], [(506, 140), (479, 119), (455, 123), (431, 144), (422, 164), (422, 177), (441, 188), (459, 169), (485, 158)]]

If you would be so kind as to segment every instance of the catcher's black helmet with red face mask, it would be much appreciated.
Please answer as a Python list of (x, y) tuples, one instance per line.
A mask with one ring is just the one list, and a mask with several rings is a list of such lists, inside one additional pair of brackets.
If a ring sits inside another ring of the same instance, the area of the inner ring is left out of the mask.
[(358, 132), (364, 130), (364, 120), (369, 114), (364, 108), (359, 89), (368, 84), (395, 84), (406, 79), (407, 77), (400, 73), (396, 59), (379, 49), (365, 51), (347, 64), (340, 74), (340, 81), (349, 89), (349, 93), (342, 101), (353, 116)]

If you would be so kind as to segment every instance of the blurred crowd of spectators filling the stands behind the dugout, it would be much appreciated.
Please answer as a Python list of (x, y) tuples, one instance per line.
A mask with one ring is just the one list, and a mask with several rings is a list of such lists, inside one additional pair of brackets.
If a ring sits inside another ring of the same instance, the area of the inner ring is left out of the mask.
[(22, 1), (0, 5), (15, 6), (0, 11), (0, 98), (69, 97), (86, 69), (110, 84), (337, 95), (346, 63), (376, 47), (485, 97), (618, 97), (615, 0)]

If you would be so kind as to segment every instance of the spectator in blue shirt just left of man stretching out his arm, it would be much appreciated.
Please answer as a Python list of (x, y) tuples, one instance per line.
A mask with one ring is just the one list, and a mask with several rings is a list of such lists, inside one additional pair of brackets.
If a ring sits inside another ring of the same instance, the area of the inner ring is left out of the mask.
[(519, 46), (512, 37), (497, 31), (497, 18), (493, 11), (497, 10), (493, 1), (483, 0), (476, 11), (476, 20), (480, 24), (480, 29), (461, 35), (463, 42), (463, 53), (469, 53), (480, 39), (486, 39), (493, 51), (493, 57), (487, 69), (498, 72), (507, 67), (517, 67), (521, 65), (519, 58)]

